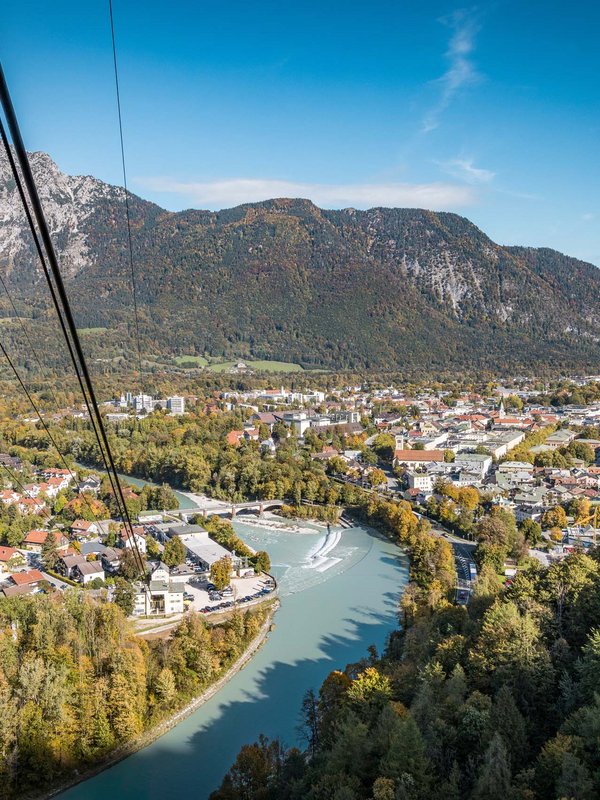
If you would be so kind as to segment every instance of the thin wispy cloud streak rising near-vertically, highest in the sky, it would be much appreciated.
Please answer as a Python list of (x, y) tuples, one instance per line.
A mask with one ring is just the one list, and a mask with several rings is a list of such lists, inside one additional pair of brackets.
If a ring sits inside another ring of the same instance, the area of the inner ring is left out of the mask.
[(452, 31), (446, 51), (448, 69), (435, 81), (440, 86), (440, 96), (437, 103), (425, 115), (422, 127), (424, 133), (435, 130), (440, 124), (440, 116), (460, 90), (476, 83), (480, 78), (471, 59), (475, 49), (475, 37), (480, 27), (476, 11), (459, 9), (442, 17), (440, 22)]

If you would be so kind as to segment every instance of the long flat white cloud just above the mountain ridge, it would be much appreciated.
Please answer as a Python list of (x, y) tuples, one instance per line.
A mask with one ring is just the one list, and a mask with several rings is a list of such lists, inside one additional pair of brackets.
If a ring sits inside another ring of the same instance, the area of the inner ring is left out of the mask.
[(451, 183), (296, 183), (265, 178), (229, 178), (186, 182), (167, 177), (137, 178), (138, 186), (177, 194), (202, 208), (227, 208), (273, 197), (304, 197), (326, 208), (355, 206), (400, 206), (448, 211), (473, 205), (476, 194), (470, 186)]

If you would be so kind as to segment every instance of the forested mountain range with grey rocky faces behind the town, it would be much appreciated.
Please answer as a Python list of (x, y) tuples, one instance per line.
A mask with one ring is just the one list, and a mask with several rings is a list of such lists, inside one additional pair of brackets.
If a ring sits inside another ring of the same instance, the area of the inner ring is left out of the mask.
[[(135, 352), (122, 188), (30, 155), (77, 323), (96, 358)], [(324, 210), (274, 199), (168, 212), (130, 197), (144, 357), (292, 361), (332, 370), (598, 371), (600, 270), (503, 247), (464, 217)], [(0, 321), (60, 363), (48, 291), (0, 155)], [(94, 333), (95, 332), (95, 333)]]

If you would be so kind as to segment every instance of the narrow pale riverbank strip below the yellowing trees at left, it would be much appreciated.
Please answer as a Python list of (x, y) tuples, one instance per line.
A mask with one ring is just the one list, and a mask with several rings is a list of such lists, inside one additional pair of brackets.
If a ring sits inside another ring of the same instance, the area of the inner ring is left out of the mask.
[(219, 692), (235, 675), (237, 675), (240, 670), (242, 670), (246, 664), (252, 659), (255, 653), (263, 646), (265, 643), (269, 632), (273, 627), (273, 617), (276, 611), (279, 609), (280, 602), (279, 600), (275, 600), (272, 604), (272, 607), (269, 609), (267, 613), (267, 617), (263, 622), (259, 632), (254, 637), (254, 639), (250, 642), (248, 647), (244, 650), (244, 652), (240, 655), (240, 657), (227, 669), (224, 675), (222, 675), (215, 683), (209, 686), (202, 694), (195, 697), (189, 703), (187, 703), (183, 708), (176, 711), (170, 717), (165, 720), (162, 720), (157, 725), (153, 726), (149, 730), (145, 731), (141, 736), (138, 736), (132, 742), (128, 742), (126, 745), (122, 745), (118, 747), (116, 750), (113, 750), (112, 753), (103, 761), (99, 762), (98, 764), (94, 764), (89, 769), (86, 769), (82, 772), (77, 773), (76, 775), (72, 776), (68, 780), (63, 781), (59, 786), (47, 790), (41, 794), (26, 794), (21, 795), (20, 800), (49, 800), (49, 798), (56, 797), (62, 792), (70, 789), (74, 786), (77, 786), (80, 783), (88, 780), (89, 778), (93, 778), (96, 775), (104, 772), (107, 769), (118, 764), (120, 761), (128, 758), (129, 756), (133, 755), (134, 753), (142, 750), (143, 748), (147, 747), (148, 745), (152, 744), (152, 742), (159, 739), (163, 736), (167, 731), (174, 728), (176, 725), (179, 725), (182, 720), (186, 717), (189, 717), (190, 714), (193, 714), (197, 709), (199, 709), (204, 703), (208, 702), (217, 692)]

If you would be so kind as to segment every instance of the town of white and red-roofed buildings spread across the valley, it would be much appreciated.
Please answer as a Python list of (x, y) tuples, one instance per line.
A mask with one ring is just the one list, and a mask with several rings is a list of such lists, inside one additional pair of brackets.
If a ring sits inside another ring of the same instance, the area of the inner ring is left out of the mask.
[[(597, 382), (595, 377), (579, 381)], [(165, 400), (127, 392), (107, 401), (104, 413), (116, 430), (127, 420), (150, 421), (156, 415), (160, 420), (161, 414), (183, 421), (198, 415), (241, 418), (239, 428), (225, 424), (221, 447), (232, 452), (249, 447), (266, 464), (293, 440), (330, 487), (342, 492), (332, 490), (325, 506), (331, 509), (332, 500), (343, 505), (345, 490), (377, 492), (410, 503), (451, 537), (460, 602), (468, 600), (477, 575), (474, 545), (465, 543), (474, 541), (484, 508), (512, 515), (527, 545), (521, 555), (544, 564), (596, 543), (600, 402), (544, 405), (536, 397), (539, 391), (518, 384), (496, 386), (487, 396), (363, 386), (223, 391)], [(71, 409), (58, 418), (64, 424), (69, 416), (85, 414)], [(242, 501), (197, 492), (190, 495), (192, 508), (183, 511), (163, 487), (162, 495), (155, 490), (146, 498), (154, 506), (146, 502), (142, 509), (135, 505), (140, 490), (126, 483), (125, 497), (136, 509), (128, 532), (124, 521), (108, 512), (107, 487), (98, 471), (40, 468), (24, 463), (17, 452), (0, 454), (0, 503), (21, 521), (0, 547), (0, 588), (6, 597), (79, 586), (120, 602), (138, 618), (180, 618), (188, 609), (222, 612), (259, 602), (275, 588), (266, 554), (257, 558), (225, 518), (236, 513), (262, 517), (266, 505), (285, 514), (286, 503), (295, 515), (303, 511), (330, 521), (339, 516), (339, 510), (323, 515), (308, 491), (295, 500), (259, 491)], [(472, 492), (469, 503), (461, 500), (468, 494), (464, 490)], [(29, 527), (29, 518), (37, 524)], [(497, 565), (508, 580), (517, 570), (514, 555), (506, 553)], [(136, 559), (143, 563), (146, 581), (136, 572)]]

